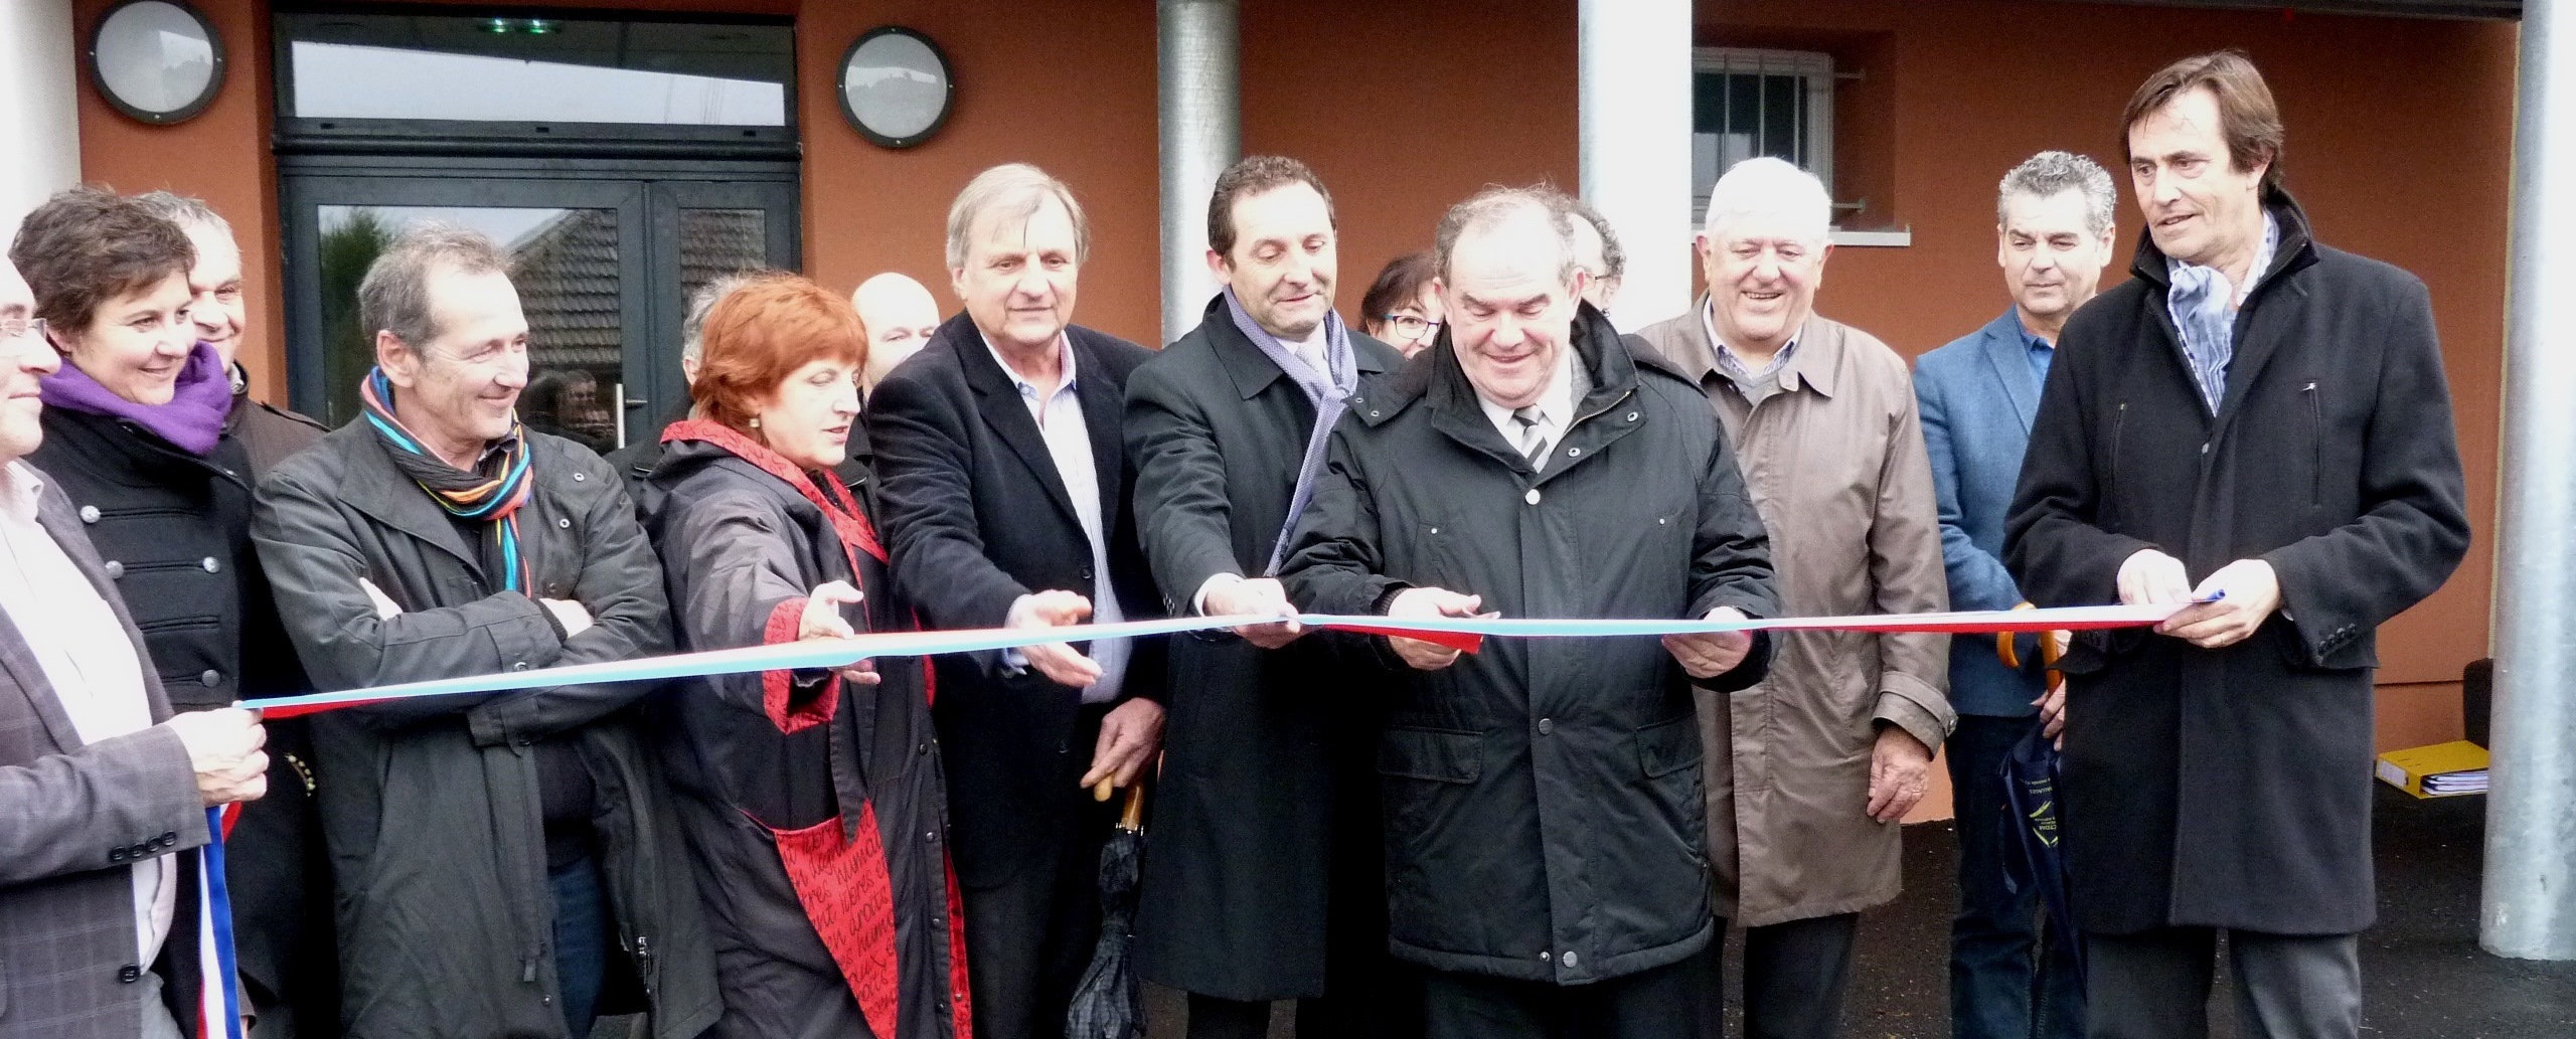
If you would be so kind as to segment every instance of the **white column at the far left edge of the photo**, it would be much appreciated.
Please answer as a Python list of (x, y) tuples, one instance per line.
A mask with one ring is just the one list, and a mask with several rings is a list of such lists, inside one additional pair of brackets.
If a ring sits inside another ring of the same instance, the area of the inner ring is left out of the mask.
[(72, 0), (0, 3), (0, 242), (46, 195), (80, 183)]

